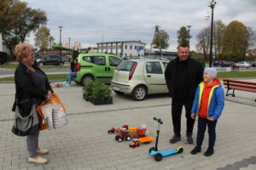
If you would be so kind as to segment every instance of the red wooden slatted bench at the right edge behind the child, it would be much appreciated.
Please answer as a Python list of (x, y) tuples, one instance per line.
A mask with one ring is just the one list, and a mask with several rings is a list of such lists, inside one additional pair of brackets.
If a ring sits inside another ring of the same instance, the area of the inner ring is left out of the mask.
[[(235, 97), (235, 90), (247, 91), (256, 93), (256, 82), (245, 82), (238, 80), (223, 79), (224, 88), (227, 88), (226, 96), (232, 95)], [(229, 94), (229, 91), (233, 90), (233, 94)], [(256, 102), (256, 99), (255, 99)]]

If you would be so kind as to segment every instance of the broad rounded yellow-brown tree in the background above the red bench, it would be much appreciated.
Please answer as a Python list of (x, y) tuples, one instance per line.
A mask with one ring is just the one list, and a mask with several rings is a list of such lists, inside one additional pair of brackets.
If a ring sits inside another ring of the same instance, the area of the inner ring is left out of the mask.
[(233, 20), (224, 33), (224, 57), (234, 61), (244, 60), (249, 47), (249, 31), (241, 22)]

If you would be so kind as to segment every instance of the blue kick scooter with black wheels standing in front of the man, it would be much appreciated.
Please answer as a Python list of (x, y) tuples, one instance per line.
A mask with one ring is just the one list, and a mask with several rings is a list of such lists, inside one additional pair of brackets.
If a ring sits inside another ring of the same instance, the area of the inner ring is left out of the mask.
[(157, 148), (158, 145), (158, 139), (159, 139), (159, 133), (160, 133), (160, 125), (163, 124), (162, 120), (160, 118), (154, 117), (154, 121), (158, 122), (158, 128), (156, 130), (157, 136), (155, 140), (155, 146), (149, 149), (150, 156), (154, 156), (155, 161), (161, 161), (163, 157), (165, 156), (172, 156), (174, 154), (182, 153), (183, 147), (179, 146), (177, 150), (164, 150), (159, 151)]

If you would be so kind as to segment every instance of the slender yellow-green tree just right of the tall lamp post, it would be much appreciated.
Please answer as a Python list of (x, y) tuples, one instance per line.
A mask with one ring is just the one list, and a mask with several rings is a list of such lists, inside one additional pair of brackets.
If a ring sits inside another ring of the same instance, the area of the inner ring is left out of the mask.
[(213, 46), (215, 51), (215, 56), (218, 59), (223, 59), (224, 53), (224, 32), (226, 26), (221, 20), (217, 20), (214, 22), (214, 31), (213, 31)]

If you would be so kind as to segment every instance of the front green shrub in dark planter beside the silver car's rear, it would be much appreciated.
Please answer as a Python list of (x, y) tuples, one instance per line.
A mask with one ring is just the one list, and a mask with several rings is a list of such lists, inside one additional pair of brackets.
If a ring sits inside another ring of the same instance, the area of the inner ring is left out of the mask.
[(111, 89), (105, 83), (94, 82), (90, 102), (94, 105), (113, 104)]

